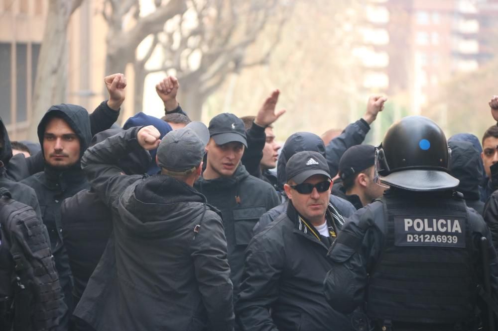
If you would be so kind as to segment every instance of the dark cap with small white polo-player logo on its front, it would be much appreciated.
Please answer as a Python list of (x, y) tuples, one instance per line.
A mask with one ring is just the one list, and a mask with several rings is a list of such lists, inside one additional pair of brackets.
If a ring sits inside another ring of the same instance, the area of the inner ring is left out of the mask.
[(209, 122), (209, 135), (217, 145), (236, 141), (248, 147), (244, 122), (234, 114), (222, 113), (213, 117)]

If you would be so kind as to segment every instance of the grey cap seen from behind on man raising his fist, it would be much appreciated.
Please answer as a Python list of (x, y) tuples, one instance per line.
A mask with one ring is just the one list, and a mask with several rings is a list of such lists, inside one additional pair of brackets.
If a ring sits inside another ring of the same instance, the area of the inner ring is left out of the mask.
[(185, 175), (201, 164), (209, 131), (202, 122), (168, 132), (157, 148), (157, 163), (167, 174)]

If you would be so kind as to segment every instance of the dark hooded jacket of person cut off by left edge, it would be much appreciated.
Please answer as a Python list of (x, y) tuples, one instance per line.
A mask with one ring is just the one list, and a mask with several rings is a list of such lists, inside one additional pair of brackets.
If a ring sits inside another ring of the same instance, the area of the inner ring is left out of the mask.
[(12, 146), (10, 145), (7, 129), (0, 118), (0, 187), (6, 188), (10, 192), (12, 199), (33, 208), (41, 221), (40, 206), (34, 190), (7, 177), (6, 166), (11, 158)]

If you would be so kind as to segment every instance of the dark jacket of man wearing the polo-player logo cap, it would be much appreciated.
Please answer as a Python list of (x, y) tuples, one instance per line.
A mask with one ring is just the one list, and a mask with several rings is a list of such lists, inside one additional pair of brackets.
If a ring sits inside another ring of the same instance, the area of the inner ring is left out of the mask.
[(270, 184), (249, 175), (244, 165), (239, 165), (231, 177), (211, 180), (201, 177), (195, 188), (206, 196), (209, 204), (221, 210), (232, 270), (230, 278), (234, 295), (237, 295), (244, 267), (244, 250), (252, 238), (252, 228), (259, 217), (278, 205), (280, 200)]

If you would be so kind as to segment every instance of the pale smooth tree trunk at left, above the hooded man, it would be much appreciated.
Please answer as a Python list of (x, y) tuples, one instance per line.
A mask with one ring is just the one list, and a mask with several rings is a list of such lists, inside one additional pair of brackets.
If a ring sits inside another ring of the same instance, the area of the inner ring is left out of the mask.
[(36, 128), (50, 105), (64, 101), (66, 94), (67, 26), (83, 0), (50, 0), (38, 58), (28, 139), (37, 141)]

